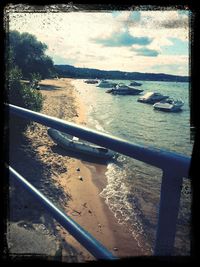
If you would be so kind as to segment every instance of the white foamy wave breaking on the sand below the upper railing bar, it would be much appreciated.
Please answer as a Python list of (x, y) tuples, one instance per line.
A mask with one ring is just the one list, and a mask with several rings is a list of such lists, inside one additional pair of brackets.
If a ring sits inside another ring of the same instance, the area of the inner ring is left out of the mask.
[[(123, 161), (124, 159), (119, 159)], [(126, 172), (114, 163), (107, 166), (107, 186), (100, 193), (105, 203), (113, 212), (119, 224), (128, 227), (144, 254), (152, 255), (152, 249), (145, 238), (145, 231), (139, 218), (139, 211), (134, 205), (134, 196), (124, 183)]]

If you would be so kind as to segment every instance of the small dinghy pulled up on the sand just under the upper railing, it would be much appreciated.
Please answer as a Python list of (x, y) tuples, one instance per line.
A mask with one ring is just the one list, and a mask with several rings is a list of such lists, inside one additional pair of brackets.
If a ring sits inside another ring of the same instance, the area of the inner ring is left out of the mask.
[(65, 150), (82, 153), (100, 159), (114, 159), (117, 157), (117, 153), (107, 148), (80, 140), (78, 137), (62, 133), (52, 128), (49, 128), (47, 132), (52, 140)]

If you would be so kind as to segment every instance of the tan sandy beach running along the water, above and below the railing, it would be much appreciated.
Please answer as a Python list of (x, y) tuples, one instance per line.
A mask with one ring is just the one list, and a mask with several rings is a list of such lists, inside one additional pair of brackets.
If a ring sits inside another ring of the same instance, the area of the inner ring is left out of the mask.
[[(41, 113), (87, 126), (87, 107), (82, 103), (71, 81), (71, 79), (60, 78), (40, 82), (40, 91), (44, 96)], [(143, 256), (144, 252), (128, 229), (118, 224), (104, 199), (99, 196), (106, 185), (106, 165), (69, 157), (50, 139), (47, 127), (40, 124), (33, 123), (25, 135), (29, 142), (26, 154), (34, 154), (40, 165), (43, 168), (45, 166), (43, 180), (46, 174), (50, 181), (46, 188), (54, 184), (58, 192), (63, 193), (62, 198), (55, 197), (55, 199), (61, 199), (58, 206), (114, 255), (120, 258)], [(31, 161), (29, 162), (27, 175), (34, 176), (34, 166), (31, 166)], [(45, 191), (45, 188), (43, 190)], [(11, 213), (13, 209), (11, 208)], [(62, 240), (62, 261), (68, 259), (65, 242), (70, 244), (70, 247), (80, 256), (77, 257), (77, 261), (95, 260), (65, 229), (58, 223), (54, 223)]]

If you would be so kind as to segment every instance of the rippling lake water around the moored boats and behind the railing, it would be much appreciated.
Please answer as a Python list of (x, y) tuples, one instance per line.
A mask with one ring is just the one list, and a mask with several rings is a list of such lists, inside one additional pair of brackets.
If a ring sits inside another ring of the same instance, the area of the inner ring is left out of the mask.
[[(129, 84), (130, 81), (115, 80)], [(138, 87), (181, 98), (181, 112), (156, 111), (152, 105), (137, 102), (136, 96), (117, 96), (107, 89), (75, 80), (83, 102), (88, 107), (87, 126), (128, 141), (163, 148), (191, 156), (189, 84), (175, 82), (139, 81)], [(173, 166), (172, 166), (173, 168)], [(120, 155), (116, 163), (109, 163), (107, 186), (101, 197), (118, 222), (126, 225), (138, 244), (149, 254), (153, 251), (159, 209), (162, 171), (140, 161)], [(170, 215), (169, 215), (170, 216)], [(190, 254), (191, 188), (183, 181), (175, 240), (175, 254)]]

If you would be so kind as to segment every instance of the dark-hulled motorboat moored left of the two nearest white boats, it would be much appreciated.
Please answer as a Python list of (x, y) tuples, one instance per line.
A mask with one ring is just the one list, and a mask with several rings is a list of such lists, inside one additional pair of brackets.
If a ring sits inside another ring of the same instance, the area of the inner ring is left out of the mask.
[(139, 95), (141, 92), (143, 92), (143, 90), (130, 87), (123, 83), (119, 83), (114, 88), (106, 91), (106, 93), (111, 93), (113, 95)]

